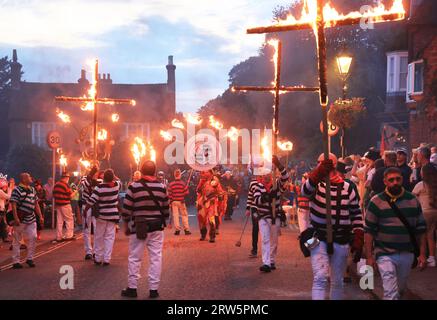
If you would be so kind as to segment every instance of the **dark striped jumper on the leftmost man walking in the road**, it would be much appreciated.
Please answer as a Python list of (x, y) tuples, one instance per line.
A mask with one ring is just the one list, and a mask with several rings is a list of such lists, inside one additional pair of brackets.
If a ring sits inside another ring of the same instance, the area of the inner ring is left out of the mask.
[(23, 224), (32, 224), (36, 222), (35, 205), (37, 204), (38, 197), (36, 195), (35, 188), (25, 187), (18, 185), (12, 190), (11, 203), (15, 203), (17, 211), (23, 213), (23, 219), (20, 221)]

